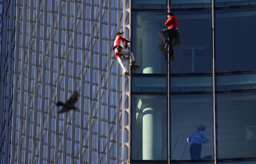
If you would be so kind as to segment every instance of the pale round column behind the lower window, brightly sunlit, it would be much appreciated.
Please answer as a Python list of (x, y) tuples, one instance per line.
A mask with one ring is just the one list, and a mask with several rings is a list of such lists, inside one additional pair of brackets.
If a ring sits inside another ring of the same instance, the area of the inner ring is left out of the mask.
[(162, 159), (162, 111), (156, 107), (143, 109), (143, 160)]

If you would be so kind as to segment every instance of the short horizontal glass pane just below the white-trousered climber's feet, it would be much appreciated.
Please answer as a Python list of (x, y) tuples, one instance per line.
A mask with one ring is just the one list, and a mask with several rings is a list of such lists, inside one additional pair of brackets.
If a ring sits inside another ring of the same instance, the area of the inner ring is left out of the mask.
[(167, 92), (167, 77), (132, 77), (134, 92)]

